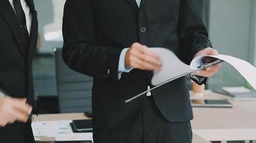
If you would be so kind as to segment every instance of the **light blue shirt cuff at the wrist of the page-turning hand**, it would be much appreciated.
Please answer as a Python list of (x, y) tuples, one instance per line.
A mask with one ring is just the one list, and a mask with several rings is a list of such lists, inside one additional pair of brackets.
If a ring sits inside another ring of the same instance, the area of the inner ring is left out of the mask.
[(127, 54), (129, 48), (124, 48), (119, 57), (119, 65), (118, 65), (118, 77), (121, 78), (121, 74), (123, 72), (129, 72), (132, 68), (125, 66), (125, 56)]

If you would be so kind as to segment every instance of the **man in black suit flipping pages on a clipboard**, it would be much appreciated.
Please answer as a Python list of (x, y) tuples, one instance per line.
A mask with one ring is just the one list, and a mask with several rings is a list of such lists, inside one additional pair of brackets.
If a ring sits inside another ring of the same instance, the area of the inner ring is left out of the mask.
[[(94, 142), (191, 142), (193, 113), (184, 77), (124, 101), (152, 88), (152, 71), (161, 68), (148, 47), (170, 49), (186, 64), (195, 55), (217, 54), (203, 19), (202, 0), (66, 1), (63, 59), (93, 77)], [(205, 84), (219, 68), (191, 78)]]

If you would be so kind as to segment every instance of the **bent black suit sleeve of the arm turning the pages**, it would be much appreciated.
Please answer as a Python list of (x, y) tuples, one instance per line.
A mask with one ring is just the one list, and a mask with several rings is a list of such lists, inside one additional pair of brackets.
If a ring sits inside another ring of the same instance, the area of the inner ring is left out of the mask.
[(122, 47), (97, 45), (92, 0), (67, 0), (63, 16), (63, 59), (93, 78), (118, 80)]

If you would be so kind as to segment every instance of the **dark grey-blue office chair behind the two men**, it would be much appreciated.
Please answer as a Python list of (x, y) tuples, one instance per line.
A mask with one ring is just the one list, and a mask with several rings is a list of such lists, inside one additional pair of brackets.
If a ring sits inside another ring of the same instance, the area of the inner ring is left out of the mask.
[(60, 113), (91, 112), (92, 77), (70, 69), (63, 61), (62, 48), (54, 51)]

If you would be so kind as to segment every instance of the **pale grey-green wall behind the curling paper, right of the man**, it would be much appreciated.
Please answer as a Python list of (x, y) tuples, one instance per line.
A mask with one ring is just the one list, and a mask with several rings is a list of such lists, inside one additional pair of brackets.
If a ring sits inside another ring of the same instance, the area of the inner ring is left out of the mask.
[[(209, 0), (209, 38), (219, 53), (252, 61), (252, 1)], [(244, 82), (235, 69), (224, 64), (219, 74), (209, 79), (209, 87), (242, 86)]]

